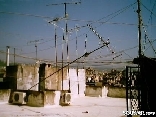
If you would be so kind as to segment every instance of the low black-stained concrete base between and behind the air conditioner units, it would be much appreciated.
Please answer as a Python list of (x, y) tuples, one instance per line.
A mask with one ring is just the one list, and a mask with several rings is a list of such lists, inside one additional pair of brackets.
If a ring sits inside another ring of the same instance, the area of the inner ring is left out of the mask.
[(60, 101), (61, 91), (32, 91), (32, 90), (11, 91), (10, 97), (8, 96), (9, 100), (5, 102), (9, 102), (10, 104), (13, 103), (14, 92), (26, 93), (26, 97), (25, 97), (26, 100), (24, 101), (26, 101), (25, 105), (27, 106), (45, 107), (45, 106), (59, 105), (60, 103), (59, 101)]

